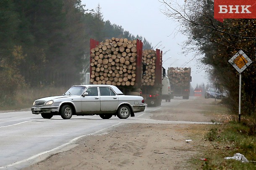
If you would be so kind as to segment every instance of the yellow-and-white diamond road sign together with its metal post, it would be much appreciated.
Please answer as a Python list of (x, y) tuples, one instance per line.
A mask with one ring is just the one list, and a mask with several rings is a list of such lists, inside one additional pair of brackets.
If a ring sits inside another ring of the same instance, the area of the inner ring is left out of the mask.
[(242, 75), (241, 73), (252, 63), (251, 59), (242, 50), (235, 53), (235, 55), (228, 61), (239, 73), (239, 122), (241, 120), (241, 86)]

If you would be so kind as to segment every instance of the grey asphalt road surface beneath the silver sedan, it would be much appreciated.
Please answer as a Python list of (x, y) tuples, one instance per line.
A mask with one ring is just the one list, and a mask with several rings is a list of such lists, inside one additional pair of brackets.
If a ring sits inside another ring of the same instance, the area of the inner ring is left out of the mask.
[[(193, 99), (193, 98), (191, 98)], [(162, 107), (174, 107), (186, 100), (162, 102), (161, 107), (146, 107), (128, 119), (101, 119), (99, 116), (73, 116), (62, 119), (53, 116), (43, 119), (41, 115), (25, 112), (0, 113), (0, 169), (18, 170), (32, 163), (44, 160), (47, 156), (75, 147), (74, 141), (91, 134), (106, 133), (108, 128), (117, 128), (125, 123), (204, 123), (160, 121), (150, 119), (152, 112)], [(205, 122), (209, 123), (209, 122)]]

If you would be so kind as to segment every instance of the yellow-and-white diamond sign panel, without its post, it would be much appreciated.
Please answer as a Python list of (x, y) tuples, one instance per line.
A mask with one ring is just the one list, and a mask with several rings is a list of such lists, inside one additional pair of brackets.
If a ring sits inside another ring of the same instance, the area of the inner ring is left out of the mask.
[(235, 55), (228, 61), (241, 74), (251, 63), (251, 59), (242, 50), (235, 53)]

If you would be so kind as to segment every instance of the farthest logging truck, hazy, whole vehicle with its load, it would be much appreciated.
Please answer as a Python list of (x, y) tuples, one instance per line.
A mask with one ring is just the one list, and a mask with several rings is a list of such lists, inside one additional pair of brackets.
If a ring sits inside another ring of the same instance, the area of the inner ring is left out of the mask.
[(174, 68), (169, 67), (167, 76), (171, 84), (171, 98), (174, 96), (182, 96), (182, 99), (189, 99), (191, 68)]

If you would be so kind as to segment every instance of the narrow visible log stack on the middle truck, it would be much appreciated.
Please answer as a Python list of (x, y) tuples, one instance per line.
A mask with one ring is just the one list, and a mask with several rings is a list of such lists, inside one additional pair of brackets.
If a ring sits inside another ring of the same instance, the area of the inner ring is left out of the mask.
[[(156, 51), (154, 50), (143, 51), (142, 62), (146, 64), (146, 75), (142, 76), (142, 85), (154, 86), (154, 82), (156, 79), (156, 75), (155, 75), (156, 60), (157, 60)], [(160, 62), (161, 60), (162, 60), (162, 56), (160, 54)]]

